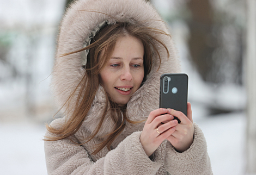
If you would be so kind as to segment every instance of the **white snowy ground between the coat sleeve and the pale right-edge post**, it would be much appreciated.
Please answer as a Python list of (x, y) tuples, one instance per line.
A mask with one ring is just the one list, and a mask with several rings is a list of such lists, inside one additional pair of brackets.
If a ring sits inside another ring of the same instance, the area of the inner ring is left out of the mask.
[(214, 174), (245, 174), (246, 115), (222, 114), (194, 122), (205, 135)]

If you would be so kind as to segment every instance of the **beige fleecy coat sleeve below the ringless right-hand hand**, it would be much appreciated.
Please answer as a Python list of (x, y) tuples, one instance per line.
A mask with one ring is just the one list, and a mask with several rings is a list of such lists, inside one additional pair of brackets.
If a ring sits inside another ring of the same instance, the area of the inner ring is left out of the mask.
[(208, 175), (212, 174), (206, 140), (202, 130), (194, 123), (194, 141), (185, 152), (176, 152), (168, 141), (164, 159), (166, 170), (172, 175)]

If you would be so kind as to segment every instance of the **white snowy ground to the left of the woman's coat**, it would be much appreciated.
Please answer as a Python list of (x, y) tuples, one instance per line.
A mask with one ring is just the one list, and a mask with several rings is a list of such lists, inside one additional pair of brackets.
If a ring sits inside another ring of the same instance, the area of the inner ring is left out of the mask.
[(42, 141), (45, 132), (44, 124), (0, 123), (1, 174), (47, 174)]

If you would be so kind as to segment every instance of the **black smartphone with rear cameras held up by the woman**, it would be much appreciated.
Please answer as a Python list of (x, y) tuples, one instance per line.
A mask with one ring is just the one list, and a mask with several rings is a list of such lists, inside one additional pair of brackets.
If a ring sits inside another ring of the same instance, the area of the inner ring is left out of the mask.
[[(185, 73), (166, 73), (160, 78), (159, 108), (170, 108), (187, 116), (188, 76)], [(174, 119), (179, 118), (174, 116)]]

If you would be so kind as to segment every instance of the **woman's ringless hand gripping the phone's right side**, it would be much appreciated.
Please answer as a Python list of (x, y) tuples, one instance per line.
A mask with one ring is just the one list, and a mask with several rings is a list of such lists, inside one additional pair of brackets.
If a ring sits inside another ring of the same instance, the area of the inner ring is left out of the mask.
[(176, 125), (175, 131), (167, 137), (167, 140), (174, 146), (176, 151), (184, 152), (190, 148), (194, 140), (191, 104), (187, 103), (187, 117), (180, 111), (168, 110), (169, 114), (178, 117), (181, 122)]

